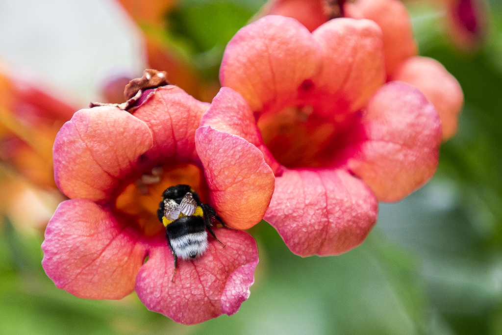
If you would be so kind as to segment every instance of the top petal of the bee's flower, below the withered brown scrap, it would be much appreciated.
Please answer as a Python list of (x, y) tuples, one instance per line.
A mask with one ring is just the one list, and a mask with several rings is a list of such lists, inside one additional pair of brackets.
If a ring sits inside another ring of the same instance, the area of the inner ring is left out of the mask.
[(194, 135), (209, 103), (178, 86), (162, 86), (134, 111), (152, 131), (154, 145), (145, 156), (157, 162), (199, 163)]

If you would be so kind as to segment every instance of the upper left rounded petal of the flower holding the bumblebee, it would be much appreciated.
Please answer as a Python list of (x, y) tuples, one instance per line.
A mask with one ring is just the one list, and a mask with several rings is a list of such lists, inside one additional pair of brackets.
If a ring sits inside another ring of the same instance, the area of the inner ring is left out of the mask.
[(56, 136), (54, 179), (70, 198), (107, 199), (151, 147), (147, 125), (127, 111), (81, 109)]

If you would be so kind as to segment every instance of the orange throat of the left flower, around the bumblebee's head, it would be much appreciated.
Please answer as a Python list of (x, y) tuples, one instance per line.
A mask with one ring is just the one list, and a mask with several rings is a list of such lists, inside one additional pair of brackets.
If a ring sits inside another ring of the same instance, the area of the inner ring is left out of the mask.
[(159, 166), (128, 184), (115, 200), (115, 209), (130, 216), (147, 236), (158, 234), (164, 226), (157, 218), (162, 192), (178, 184), (191, 185), (206, 201), (207, 185), (202, 171), (192, 164)]

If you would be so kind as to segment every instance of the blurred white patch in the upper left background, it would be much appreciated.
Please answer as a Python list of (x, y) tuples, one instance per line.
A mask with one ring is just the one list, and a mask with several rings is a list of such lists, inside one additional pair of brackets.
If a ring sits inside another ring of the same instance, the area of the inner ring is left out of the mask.
[(72, 105), (144, 68), (139, 28), (114, 0), (0, 0), (0, 69)]

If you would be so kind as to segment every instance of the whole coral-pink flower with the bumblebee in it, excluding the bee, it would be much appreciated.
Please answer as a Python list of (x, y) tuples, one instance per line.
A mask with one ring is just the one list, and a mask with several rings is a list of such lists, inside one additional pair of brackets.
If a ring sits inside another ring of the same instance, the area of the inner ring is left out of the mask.
[[(209, 107), (176, 86), (143, 92), (128, 111), (77, 111), (53, 148), (55, 180), (70, 199), (47, 226), (43, 267), (57, 287), (89, 299), (136, 290), (148, 309), (185, 324), (235, 313), (258, 264), (254, 239), (215, 228), (207, 251), (179, 260), (156, 211), (169, 186), (189, 184), (226, 225), (247, 229), (263, 217), (274, 175), (241, 137), (199, 128)], [(130, 113), (131, 112), (131, 113)], [(147, 260), (148, 259), (148, 260)]]

